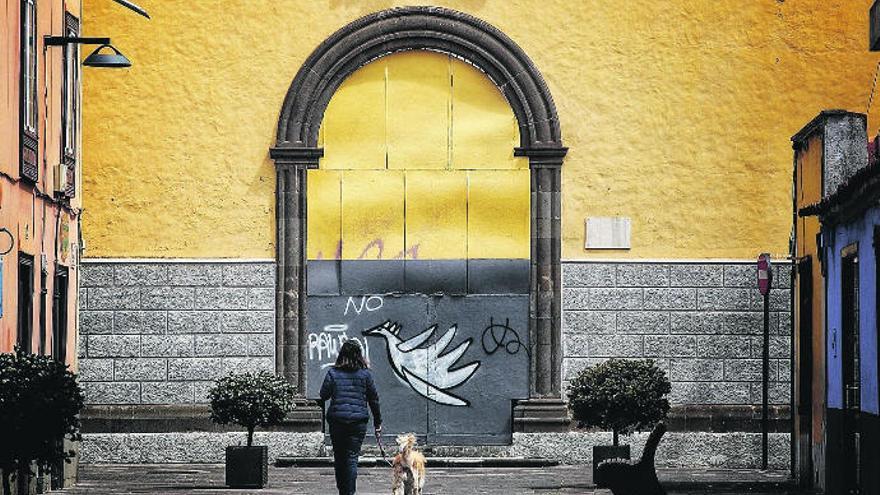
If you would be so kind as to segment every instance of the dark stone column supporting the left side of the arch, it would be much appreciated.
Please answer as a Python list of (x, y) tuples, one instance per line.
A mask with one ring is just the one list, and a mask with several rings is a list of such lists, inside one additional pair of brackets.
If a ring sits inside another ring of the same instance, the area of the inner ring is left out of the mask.
[(275, 160), (275, 372), (297, 393), (288, 423), (299, 429), (321, 428), (321, 410), (306, 395), (306, 184), (307, 171), (318, 168), (324, 150), (276, 147)]

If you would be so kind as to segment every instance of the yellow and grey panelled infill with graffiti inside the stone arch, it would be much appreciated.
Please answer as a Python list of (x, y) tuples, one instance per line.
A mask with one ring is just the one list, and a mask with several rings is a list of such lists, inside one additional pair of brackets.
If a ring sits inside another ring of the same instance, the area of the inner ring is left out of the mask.
[(324, 113), (306, 173), (307, 397), (362, 344), (387, 431), (510, 439), (528, 399), (528, 160), (473, 66), (423, 50), (370, 62)]

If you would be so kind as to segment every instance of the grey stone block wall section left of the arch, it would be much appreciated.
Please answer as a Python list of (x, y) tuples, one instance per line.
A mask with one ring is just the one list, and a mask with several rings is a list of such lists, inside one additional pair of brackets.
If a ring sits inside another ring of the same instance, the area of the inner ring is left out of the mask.
[(83, 260), (81, 274), (88, 404), (205, 402), (230, 371), (275, 369), (273, 262)]

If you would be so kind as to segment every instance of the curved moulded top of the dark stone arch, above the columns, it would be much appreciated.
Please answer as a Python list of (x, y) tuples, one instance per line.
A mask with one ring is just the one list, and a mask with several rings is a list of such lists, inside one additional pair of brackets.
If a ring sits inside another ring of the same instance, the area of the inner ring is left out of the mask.
[(490, 24), (439, 7), (376, 12), (321, 43), (287, 91), (276, 146), (315, 146), (324, 109), (342, 81), (370, 61), (404, 50), (435, 50), (472, 63), (492, 79), (513, 108), (522, 148), (562, 146), (553, 98), (525, 52)]

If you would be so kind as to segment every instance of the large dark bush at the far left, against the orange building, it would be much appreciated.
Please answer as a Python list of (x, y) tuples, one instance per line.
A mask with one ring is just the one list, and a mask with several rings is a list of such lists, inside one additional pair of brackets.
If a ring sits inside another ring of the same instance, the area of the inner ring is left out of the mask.
[(67, 365), (16, 348), (0, 354), (0, 472), (4, 495), (12, 480), (24, 488), (35, 475), (70, 462), (64, 439), (80, 440), (83, 393)]

